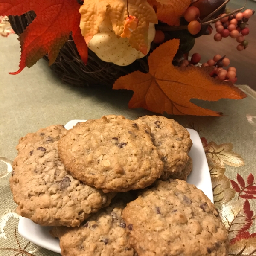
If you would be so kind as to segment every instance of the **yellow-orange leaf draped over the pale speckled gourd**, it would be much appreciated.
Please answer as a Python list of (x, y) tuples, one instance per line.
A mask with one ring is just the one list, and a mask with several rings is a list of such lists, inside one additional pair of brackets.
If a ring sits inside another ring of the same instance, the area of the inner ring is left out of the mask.
[[(129, 0), (129, 15), (135, 16), (138, 21), (137, 28), (128, 37), (131, 46), (141, 51), (144, 55), (148, 49), (148, 24), (157, 23), (154, 9), (147, 0)], [(125, 0), (87, 0), (81, 6), (81, 31), (87, 44), (93, 35), (99, 33), (99, 26), (105, 17), (109, 17), (113, 31), (121, 35), (128, 17)]]

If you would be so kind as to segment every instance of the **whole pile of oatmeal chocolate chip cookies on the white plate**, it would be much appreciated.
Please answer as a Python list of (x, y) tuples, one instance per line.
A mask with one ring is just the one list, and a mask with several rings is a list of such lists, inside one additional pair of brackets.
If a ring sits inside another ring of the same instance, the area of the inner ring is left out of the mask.
[(53, 226), (63, 256), (225, 256), (227, 230), (186, 183), (188, 131), (163, 116), (53, 125), (19, 140), (17, 212)]

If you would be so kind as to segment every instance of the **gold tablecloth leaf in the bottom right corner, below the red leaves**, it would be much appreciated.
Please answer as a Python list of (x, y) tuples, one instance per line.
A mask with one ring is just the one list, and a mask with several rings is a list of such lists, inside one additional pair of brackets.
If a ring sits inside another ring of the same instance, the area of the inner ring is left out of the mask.
[[(249, 232), (248, 232), (249, 233)], [(243, 235), (243, 234), (241, 234)], [(230, 243), (230, 256), (256, 256), (256, 233)]]

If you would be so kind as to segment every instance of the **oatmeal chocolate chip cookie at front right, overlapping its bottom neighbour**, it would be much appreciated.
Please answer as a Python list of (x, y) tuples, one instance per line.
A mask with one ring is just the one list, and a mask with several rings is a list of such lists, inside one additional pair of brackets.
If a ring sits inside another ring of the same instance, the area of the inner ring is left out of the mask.
[(139, 256), (227, 256), (228, 233), (204, 193), (183, 180), (157, 181), (122, 218)]

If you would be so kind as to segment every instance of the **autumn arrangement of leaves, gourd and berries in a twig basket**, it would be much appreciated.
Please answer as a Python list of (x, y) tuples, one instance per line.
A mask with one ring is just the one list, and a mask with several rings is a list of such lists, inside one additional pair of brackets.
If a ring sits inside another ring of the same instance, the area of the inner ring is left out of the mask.
[(69, 84), (133, 90), (130, 108), (221, 116), (190, 99), (246, 97), (233, 85), (236, 68), (221, 55), (198, 65), (201, 56), (190, 59), (189, 51), (213, 29), (215, 41), (230, 36), (237, 50), (248, 47), (254, 11), (230, 11), (229, 1), (0, 0), (0, 15), (9, 16), (21, 46), (19, 70), (10, 74), (44, 57)]

